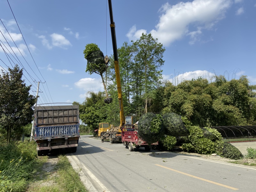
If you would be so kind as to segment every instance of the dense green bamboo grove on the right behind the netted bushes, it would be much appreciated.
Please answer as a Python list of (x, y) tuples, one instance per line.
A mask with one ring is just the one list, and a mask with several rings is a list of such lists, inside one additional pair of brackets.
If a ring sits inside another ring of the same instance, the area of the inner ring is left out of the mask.
[(246, 76), (227, 81), (216, 76), (215, 82), (199, 77), (171, 83), (164, 88), (163, 113), (174, 112), (200, 127), (255, 124), (255, 85)]

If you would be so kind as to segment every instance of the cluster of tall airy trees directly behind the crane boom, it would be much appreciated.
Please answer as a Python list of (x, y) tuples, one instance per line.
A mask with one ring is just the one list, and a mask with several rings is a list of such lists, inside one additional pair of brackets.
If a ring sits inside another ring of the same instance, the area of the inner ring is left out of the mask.
[[(151, 101), (157, 98), (155, 90), (161, 85), (164, 51), (163, 45), (151, 34), (142, 34), (131, 45), (125, 42), (118, 49), (122, 91), (129, 105), (136, 103), (138, 106), (130, 110), (137, 119), (148, 111)], [(113, 88), (116, 88), (113, 59), (110, 59), (108, 74), (114, 82)]]

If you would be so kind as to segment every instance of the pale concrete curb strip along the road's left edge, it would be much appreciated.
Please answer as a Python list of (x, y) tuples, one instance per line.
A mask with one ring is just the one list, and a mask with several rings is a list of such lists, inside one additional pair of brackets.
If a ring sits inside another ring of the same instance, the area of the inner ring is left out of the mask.
[[(81, 170), (78, 172), (80, 180), (83, 182), (85, 188), (90, 192), (110, 192), (93, 174), (90, 172), (84, 164), (80, 163), (73, 153), (67, 154), (68, 160), (74, 170)], [(92, 182), (90, 181), (92, 180)]]

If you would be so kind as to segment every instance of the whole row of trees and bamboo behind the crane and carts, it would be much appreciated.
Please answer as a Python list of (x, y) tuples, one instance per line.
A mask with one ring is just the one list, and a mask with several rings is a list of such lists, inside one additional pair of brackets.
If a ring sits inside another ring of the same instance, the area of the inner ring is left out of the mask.
[[(164, 51), (150, 34), (143, 34), (130, 45), (124, 42), (118, 49), (125, 116), (132, 115), (137, 121), (147, 112), (174, 112), (200, 127), (256, 123), (256, 85), (250, 85), (246, 76), (228, 81), (215, 75), (212, 82), (198, 77), (173, 85), (162, 80)], [(113, 102), (104, 103), (104, 92), (88, 92), (83, 103), (74, 102), (80, 105), (80, 119), (92, 131), (101, 122), (115, 126), (120, 123), (113, 62), (111, 56), (107, 79)]]

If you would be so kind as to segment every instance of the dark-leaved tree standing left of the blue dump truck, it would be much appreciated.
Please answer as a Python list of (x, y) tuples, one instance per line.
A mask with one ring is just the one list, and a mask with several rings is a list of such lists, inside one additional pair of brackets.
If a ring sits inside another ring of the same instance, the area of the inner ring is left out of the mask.
[(18, 65), (8, 71), (2, 70), (0, 75), (0, 124), (10, 143), (12, 132), (33, 120), (36, 97), (29, 94), (31, 85), (26, 86), (22, 80), (23, 72)]

